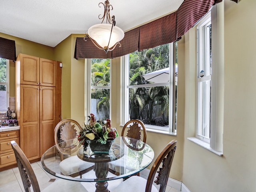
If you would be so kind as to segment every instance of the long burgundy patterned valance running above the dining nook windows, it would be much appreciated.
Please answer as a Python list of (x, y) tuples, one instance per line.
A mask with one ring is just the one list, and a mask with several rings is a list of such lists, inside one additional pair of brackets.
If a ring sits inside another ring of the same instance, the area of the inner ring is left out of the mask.
[[(91, 40), (76, 38), (74, 58), (116, 58), (180, 40), (180, 38), (196, 24), (212, 7), (222, 0), (184, 0), (176, 12), (154, 20), (124, 33), (120, 41), (121, 47), (116, 46), (107, 54), (99, 50)], [(232, 0), (237, 2), (238, 0)]]

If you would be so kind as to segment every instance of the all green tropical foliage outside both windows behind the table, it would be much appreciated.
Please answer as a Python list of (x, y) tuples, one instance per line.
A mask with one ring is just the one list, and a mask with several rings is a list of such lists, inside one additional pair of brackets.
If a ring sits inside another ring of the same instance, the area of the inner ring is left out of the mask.
[[(177, 44), (175, 44), (177, 46)], [(177, 52), (176, 52), (177, 53)], [(129, 85), (150, 84), (143, 74), (169, 67), (169, 44), (136, 51), (129, 54)], [(177, 57), (177, 54), (175, 55)], [(110, 60), (92, 59), (91, 86), (110, 86)], [(92, 89), (92, 99), (97, 99), (97, 114), (103, 112), (109, 118), (110, 89)], [(161, 116), (168, 124), (169, 86), (148, 86), (129, 89), (130, 119), (150, 119)]]

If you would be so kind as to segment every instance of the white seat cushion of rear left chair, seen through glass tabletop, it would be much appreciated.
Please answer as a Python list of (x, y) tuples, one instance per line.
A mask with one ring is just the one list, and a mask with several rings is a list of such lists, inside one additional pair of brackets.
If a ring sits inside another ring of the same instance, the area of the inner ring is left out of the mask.
[(64, 175), (71, 175), (92, 166), (94, 166), (94, 163), (83, 161), (75, 155), (60, 162), (60, 172)]

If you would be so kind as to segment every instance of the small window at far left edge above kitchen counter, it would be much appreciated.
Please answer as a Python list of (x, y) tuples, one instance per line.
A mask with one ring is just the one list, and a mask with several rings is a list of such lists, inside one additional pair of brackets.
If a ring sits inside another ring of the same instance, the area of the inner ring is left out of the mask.
[(9, 60), (0, 58), (0, 111), (9, 105)]

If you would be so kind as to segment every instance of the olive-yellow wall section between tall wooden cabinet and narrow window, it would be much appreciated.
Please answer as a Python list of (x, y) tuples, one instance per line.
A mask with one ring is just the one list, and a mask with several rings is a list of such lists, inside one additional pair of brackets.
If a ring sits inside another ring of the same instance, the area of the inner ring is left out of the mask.
[(54, 48), (55, 59), (62, 62), (62, 118), (84, 122), (84, 59), (74, 59), (76, 37), (72, 34)]

